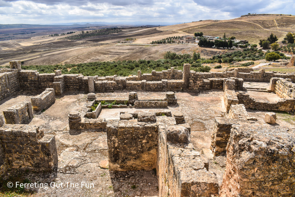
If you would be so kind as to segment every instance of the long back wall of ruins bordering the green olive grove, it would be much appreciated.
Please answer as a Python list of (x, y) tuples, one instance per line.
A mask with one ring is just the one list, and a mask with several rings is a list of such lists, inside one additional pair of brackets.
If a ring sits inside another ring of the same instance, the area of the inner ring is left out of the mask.
[[(58, 70), (55, 74), (39, 74), (37, 71), (21, 70), (19, 61), (12, 61), (12, 69), (0, 69), (0, 100), (13, 95), (18, 90), (39, 91), (54, 88), (56, 94), (64, 91), (89, 91), (87, 76), (82, 74), (64, 74)], [(279, 74), (273, 72), (253, 71), (239, 72), (239, 69), (227, 72), (199, 73), (189, 71), (187, 64), (185, 72), (174, 70), (152, 71), (150, 74), (141, 74), (128, 77), (105, 76), (91, 77), (94, 80), (95, 92), (112, 92), (114, 90), (145, 90), (145, 91), (202, 91), (222, 89), (222, 79), (235, 77), (235, 88), (242, 89), (242, 81), (270, 81), (271, 78), (290, 79), (295, 82), (295, 74)], [(184, 78), (183, 78), (184, 77)], [(184, 80), (185, 79), (185, 80)], [(90, 84), (92, 86), (92, 83)], [(93, 92), (91, 89), (90, 92)]]

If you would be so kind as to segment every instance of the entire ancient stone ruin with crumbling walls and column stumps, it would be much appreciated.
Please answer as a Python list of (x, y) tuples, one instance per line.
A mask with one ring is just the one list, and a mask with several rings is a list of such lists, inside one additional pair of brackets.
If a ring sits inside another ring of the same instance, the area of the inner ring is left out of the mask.
[[(100, 77), (60, 70), (39, 74), (22, 70), (20, 61), (11, 61), (10, 67), (0, 69), (0, 101), (18, 92), (35, 92), (35, 96), (3, 110), (4, 118), (0, 115), (0, 176), (11, 169), (63, 168), (57, 165), (61, 156), (55, 135), (32, 125), (33, 113), (42, 114), (56, 105), (57, 97), (79, 92), (82, 104), (67, 107), (67, 132), (106, 133), (109, 172), (155, 169), (158, 196), (292, 196), (295, 192), (295, 130), (277, 124), (272, 112), (294, 113), (295, 74), (264, 69), (199, 73), (184, 64), (183, 71)], [(255, 89), (247, 82), (267, 87)], [(253, 91), (276, 100), (260, 100)], [(145, 96), (145, 92), (159, 95)], [(201, 103), (213, 97), (206, 100), (198, 94), (208, 92), (218, 95), (223, 115), (209, 116), (202, 108)], [(209, 143), (204, 141), (203, 150), (195, 138), (201, 126), (190, 118), (196, 109), (185, 97), (197, 100), (198, 113), (210, 122), (210, 134), (203, 136)], [(265, 116), (253, 116), (251, 110)], [(226, 157), (219, 175), (212, 171), (212, 159), (217, 157)]]

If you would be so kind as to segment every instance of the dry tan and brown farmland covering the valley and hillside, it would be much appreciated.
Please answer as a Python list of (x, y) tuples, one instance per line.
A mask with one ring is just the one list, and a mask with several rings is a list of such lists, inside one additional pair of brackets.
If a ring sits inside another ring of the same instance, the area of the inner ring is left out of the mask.
[[(200, 48), (196, 44), (148, 44), (166, 37), (193, 35), (194, 32), (201, 31), (204, 32), (204, 35), (212, 36), (222, 36), (226, 33), (227, 37), (235, 36), (240, 40), (249, 40), (250, 43), (258, 43), (259, 39), (265, 39), (273, 32), (279, 38), (278, 41), (281, 41), (287, 32), (294, 32), (294, 21), (295, 17), (289, 15), (257, 14), (230, 20), (203, 20), (162, 27), (113, 26), (120, 28), (120, 30), (115, 33), (73, 40), (65, 38), (68, 35), (53, 37), (49, 35), (69, 31), (76, 31), (71, 35), (78, 35), (82, 30), (90, 31), (106, 27), (71, 27), (68, 29), (65, 27), (35, 27), (35, 29), (30, 27), (28, 31), (36, 33), (19, 35), (12, 40), (0, 41), (0, 66), (7, 66), (12, 59), (24, 61), (24, 65), (156, 60), (163, 58), (166, 51), (191, 54), (199, 51), (202, 57), (208, 58), (225, 53), (226, 50)], [(20, 27), (4, 29), (2, 26), (0, 28), (0, 34), (15, 33), (21, 29)], [(45, 31), (46, 28), (49, 28), (50, 31)], [(0, 35), (0, 37), (3, 36)], [(134, 41), (120, 44), (129, 38), (133, 38)]]

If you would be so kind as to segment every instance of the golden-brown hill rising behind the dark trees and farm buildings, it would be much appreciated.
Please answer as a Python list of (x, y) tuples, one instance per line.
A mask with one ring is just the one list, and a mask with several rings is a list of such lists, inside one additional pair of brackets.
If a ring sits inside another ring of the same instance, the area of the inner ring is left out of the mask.
[(175, 31), (183, 34), (203, 32), (204, 35), (235, 36), (239, 40), (258, 43), (273, 32), (279, 41), (287, 32), (295, 32), (295, 16), (280, 14), (251, 14), (230, 20), (204, 20), (179, 25), (158, 27), (161, 31)]

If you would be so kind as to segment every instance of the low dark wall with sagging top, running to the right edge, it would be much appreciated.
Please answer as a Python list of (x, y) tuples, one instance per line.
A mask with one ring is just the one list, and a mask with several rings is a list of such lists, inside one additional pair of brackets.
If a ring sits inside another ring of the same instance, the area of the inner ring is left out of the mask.
[(246, 108), (260, 109), (260, 110), (275, 110), (275, 111), (294, 111), (295, 99), (286, 98), (278, 102), (269, 102), (264, 100), (255, 100), (246, 92), (236, 92), (239, 104), (244, 104)]

